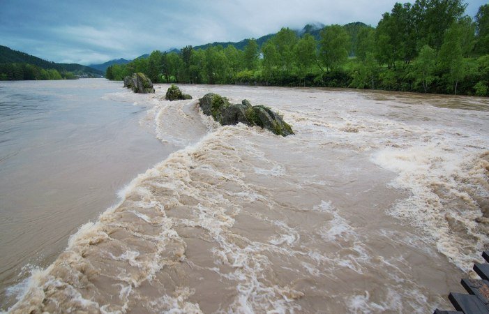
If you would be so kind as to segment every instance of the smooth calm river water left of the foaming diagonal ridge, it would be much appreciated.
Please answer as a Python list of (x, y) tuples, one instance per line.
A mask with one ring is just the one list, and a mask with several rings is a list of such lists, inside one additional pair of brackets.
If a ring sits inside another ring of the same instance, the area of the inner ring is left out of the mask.
[(0, 308), (175, 149), (144, 126), (142, 99), (107, 80), (0, 82)]

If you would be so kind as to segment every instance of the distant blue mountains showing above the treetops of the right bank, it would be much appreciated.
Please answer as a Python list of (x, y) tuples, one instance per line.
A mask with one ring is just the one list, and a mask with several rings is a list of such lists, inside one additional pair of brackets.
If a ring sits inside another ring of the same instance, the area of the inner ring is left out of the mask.
[[(306, 33), (309, 33), (316, 40), (319, 40), (320, 32), (324, 28), (324, 26), (325, 25), (322, 23), (307, 24), (305, 27), (303, 27), (303, 29), (296, 30), (296, 33), (298, 36), (304, 36)], [(357, 35), (359, 29), (361, 29), (362, 27), (368, 27), (368, 25), (365, 23), (362, 23), (362, 22), (353, 22), (353, 23), (345, 24), (343, 27), (345, 27), (346, 31), (349, 33), (349, 36), (352, 38), (352, 43), (356, 43), (356, 35)], [(269, 40), (270, 38), (272, 38), (275, 35), (276, 35), (276, 33), (269, 33), (268, 35), (257, 38), (256, 40), (257, 40), (258, 47), (262, 47), (262, 45), (267, 40)], [(215, 47), (218, 45), (221, 45), (223, 47), (227, 47), (228, 45), (232, 45), (237, 50), (244, 50), (244, 47), (246, 47), (246, 45), (248, 45), (249, 41), (250, 41), (250, 39), (247, 38), (247, 39), (243, 39), (243, 40), (240, 40), (237, 42), (233, 42), (233, 41), (214, 42), (214, 43), (207, 43), (205, 45), (195, 46), (195, 47), (193, 47), (193, 49), (198, 50), (198, 49), (207, 49), (208, 47)], [(166, 52), (180, 52), (180, 50), (176, 49), (176, 48), (172, 48), (170, 50), (166, 50)], [(352, 53), (353, 52), (351, 52), (350, 54), (352, 54)], [(147, 57), (149, 57), (149, 54), (143, 54), (142, 56), (137, 57), (136, 59), (147, 58)], [(107, 68), (109, 66), (112, 66), (113, 64), (126, 64), (126, 63), (129, 63), (130, 61), (132, 61), (132, 60), (114, 59), (114, 60), (110, 60), (110, 61), (107, 61), (107, 62), (101, 63), (101, 64), (91, 64), (91, 65), (89, 65), (89, 67), (96, 68), (98, 70), (105, 72), (105, 70), (107, 70)]]

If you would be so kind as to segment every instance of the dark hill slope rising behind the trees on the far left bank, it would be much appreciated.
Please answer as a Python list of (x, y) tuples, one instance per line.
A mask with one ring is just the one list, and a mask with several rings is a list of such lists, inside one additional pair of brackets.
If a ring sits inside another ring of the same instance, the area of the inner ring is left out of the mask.
[(6, 46), (0, 46), (0, 64), (1, 63), (27, 63), (38, 66), (45, 70), (54, 69), (61, 72), (71, 72), (75, 75), (100, 76), (103, 71), (88, 66), (82, 66), (77, 63), (54, 63), (34, 57), (31, 54), (12, 50)]

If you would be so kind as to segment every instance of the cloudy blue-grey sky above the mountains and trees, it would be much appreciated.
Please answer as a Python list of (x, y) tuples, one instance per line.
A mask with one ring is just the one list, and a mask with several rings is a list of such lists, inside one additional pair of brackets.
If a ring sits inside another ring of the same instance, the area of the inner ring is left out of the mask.
[[(400, 1), (405, 2), (405, 1)], [(0, 45), (66, 63), (239, 41), (308, 23), (376, 26), (395, 0), (0, 0)], [(467, 1), (474, 16), (484, 0)]]

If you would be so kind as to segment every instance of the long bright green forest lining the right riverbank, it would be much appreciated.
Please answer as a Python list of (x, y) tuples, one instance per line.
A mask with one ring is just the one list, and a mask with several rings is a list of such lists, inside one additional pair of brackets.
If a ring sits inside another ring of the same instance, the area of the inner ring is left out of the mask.
[(153, 82), (353, 87), (488, 96), (489, 5), (474, 18), (462, 0), (396, 3), (377, 27), (363, 23), (288, 28), (257, 43), (153, 51), (107, 68), (109, 80), (134, 72)]

